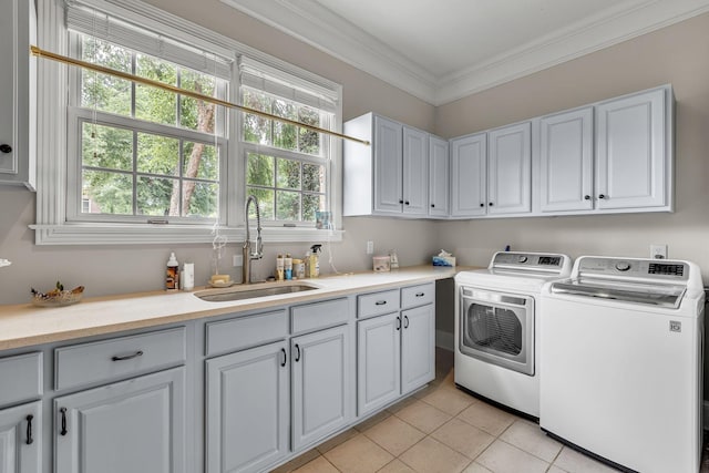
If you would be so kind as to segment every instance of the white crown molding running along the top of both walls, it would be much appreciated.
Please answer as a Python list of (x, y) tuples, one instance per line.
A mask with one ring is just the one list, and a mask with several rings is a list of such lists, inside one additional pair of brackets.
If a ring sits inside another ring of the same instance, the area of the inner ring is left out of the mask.
[(222, 2), (436, 106), (709, 11), (709, 0), (618, 2), (483, 63), (438, 75), (315, 0)]

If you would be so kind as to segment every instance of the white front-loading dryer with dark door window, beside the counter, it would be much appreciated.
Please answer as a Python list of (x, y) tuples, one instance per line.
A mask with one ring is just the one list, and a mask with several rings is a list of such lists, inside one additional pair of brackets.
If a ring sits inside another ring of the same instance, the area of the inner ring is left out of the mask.
[(568, 278), (566, 255), (500, 251), (487, 269), (455, 276), (455, 384), (540, 417), (542, 287)]

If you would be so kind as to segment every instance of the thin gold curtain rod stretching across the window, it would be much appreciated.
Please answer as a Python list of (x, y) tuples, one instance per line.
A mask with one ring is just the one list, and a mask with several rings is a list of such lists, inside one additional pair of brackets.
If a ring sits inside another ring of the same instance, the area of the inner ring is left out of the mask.
[(238, 105), (236, 103), (227, 102), (225, 100), (215, 99), (209, 95), (204, 95), (197, 92), (188, 91), (182, 88), (177, 88), (175, 85), (164, 84), (162, 82), (153, 81), (151, 79), (141, 78), (138, 75), (129, 74), (127, 72), (116, 71), (115, 69), (104, 68), (103, 65), (93, 64), (91, 62), (81, 61), (79, 59), (69, 58), (61, 54), (55, 54), (51, 51), (44, 51), (35, 45), (30, 45), (30, 52), (38, 58), (47, 58), (52, 61), (61, 62), (64, 64), (75, 65), (78, 68), (88, 69), (90, 71), (101, 72), (102, 74), (113, 75), (114, 78), (125, 79), (132, 82), (136, 82), (144, 85), (150, 85), (153, 88), (162, 89), (165, 91), (169, 91), (176, 94), (189, 96), (196, 100), (202, 100), (204, 102), (214, 103), (216, 105), (226, 106), (229, 109), (240, 110), (245, 113), (251, 113), (254, 115), (263, 116), (265, 119), (275, 120), (277, 122), (286, 123), (288, 125), (302, 126), (304, 128), (311, 130), (314, 132), (323, 133), (326, 135), (336, 136), (342, 140), (350, 140), (357, 143), (362, 143), (364, 145), (370, 145), (371, 143), (367, 140), (356, 138), (353, 136), (343, 135), (342, 133), (332, 132), (330, 130), (320, 128), (318, 126), (309, 125), (307, 123), (300, 123), (295, 120), (284, 119), (282, 116), (274, 115), (270, 113), (261, 112), (260, 110), (251, 109), (244, 105)]

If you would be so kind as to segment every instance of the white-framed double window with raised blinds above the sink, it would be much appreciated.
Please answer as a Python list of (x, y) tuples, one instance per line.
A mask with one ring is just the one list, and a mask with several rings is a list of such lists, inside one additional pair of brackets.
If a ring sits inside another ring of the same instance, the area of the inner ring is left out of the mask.
[[(59, 53), (296, 122), (340, 126), (339, 85), (150, 4), (38, 1), (40, 38)], [(312, 240), (319, 213), (339, 222), (339, 141), (62, 68), (38, 62), (39, 113), (60, 117), (38, 124), (38, 244), (206, 243), (215, 222), (240, 239), (249, 194), (270, 225), (266, 241)]]

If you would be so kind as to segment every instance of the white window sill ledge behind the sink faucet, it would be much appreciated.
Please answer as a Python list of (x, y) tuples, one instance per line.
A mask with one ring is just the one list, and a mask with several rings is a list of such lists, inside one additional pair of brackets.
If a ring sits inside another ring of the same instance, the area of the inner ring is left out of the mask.
[[(212, 244), (214, 235), (207, 226), (171, 225), (122, 225), (122, 224), (64, 224), (30, 225), (34, 230), (37, 245), (174, 245)], [(245, 229), (220, 228), (220, 235), (229, 241), (244, 241)], [(345, 230), (321, 230), (317, 228), (265, 227), (261, 230), (264, 243), (312, 243), (341, 241)], [(256, 237), (251, 228), (251, 238)]]

